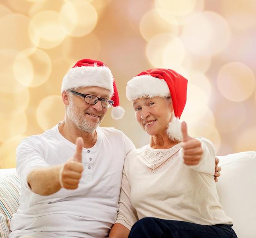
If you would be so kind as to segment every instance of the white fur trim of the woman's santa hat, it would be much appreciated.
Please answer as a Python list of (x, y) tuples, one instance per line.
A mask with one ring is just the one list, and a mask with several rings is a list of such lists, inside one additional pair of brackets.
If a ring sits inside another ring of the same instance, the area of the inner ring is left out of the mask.
[(128, 100), (136, 100), (148, 96), (167, 97), (170, 96), (170, 89), (164, 79), (155, 78), (151, 75), (135, 76), (127, 82), (126, 97)]

